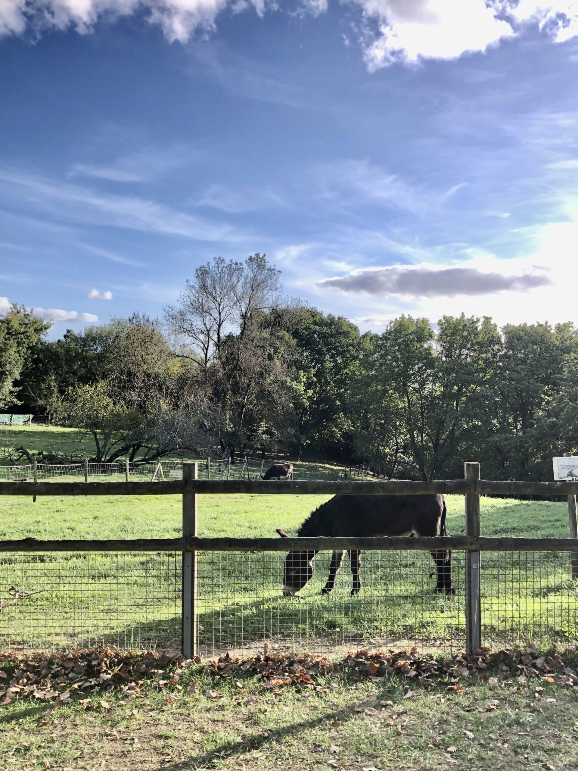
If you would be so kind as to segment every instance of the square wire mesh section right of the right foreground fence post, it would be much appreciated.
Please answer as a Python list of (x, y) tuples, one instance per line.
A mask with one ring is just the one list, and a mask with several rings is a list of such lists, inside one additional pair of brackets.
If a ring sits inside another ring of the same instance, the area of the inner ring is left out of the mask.
[(482, 551), (482, 645), (578, 639), (576, 556), (567, 551)]

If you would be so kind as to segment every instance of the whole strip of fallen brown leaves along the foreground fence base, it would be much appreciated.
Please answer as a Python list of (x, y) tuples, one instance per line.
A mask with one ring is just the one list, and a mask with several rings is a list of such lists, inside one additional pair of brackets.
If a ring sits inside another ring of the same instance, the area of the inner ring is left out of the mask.
[[(475, 655), (454, 655), (452, 658), (434, 658), (411, 651), (357, 651), (348, 653), (338, 662), (331, 662), (318, 655), (290, 655), (280, 651), (257, 654), (250, 658), (233, 658), (228, 653), (204, 665), (207, 675), (220, 678), (236, 677), (237, 688), (243, 689), (244, 679), (252, 675), (265, 689), (274, 695), (287, 685), (300, 689), (326, 692), (319, 682), (334, 675), (344, 675), (349, 682), (385, 682), (386, 678), (398, 677), (420, 682), (427, 689), (441, 687), (449, 692), (461, 692), (466, 678), (479, 675), (490, 685), (505, 685), (514, 680), (523, 685), (527, 678), (536, 678), (536, 692), (543, 690), (538, 682), (566, 685), (578, 692), (578, 651), (563, 653), (552, 648), (548, 655), (538, 655), (536, 648), (518, 646), (490, 652), (484, 648)], [(196, 659), (196, 663), (200, 663)], [(143, 689), (179, 688), (183, 667), (193, 664), (182, 656), (171, 656), (155, 651), (145, 654), (124, 654), (109, 648), (71, 651), (49, 657), (0, 655), (0, 706), (12, 702), (15, 695), (30, 697), (52, 706), (76, 701), (74, 695), (83, 695), (79, 701), (89, 709), (93, 695), (104, 695), (110, 689), (119, 688), (126, 697), (143, 695)], [(4, 671), (6, 670), (6, 671)], [(484, 670), (498, 670), (499, 680), (487, 676)], [(8, 674), (10, 672), (10, 674)], [(518, 687), (518, 686), (516, 686)], [(196, 683), (190, 685), (190, 693), (196, 692)], [(408, 692), (413, 695), (415, 692)], [(207, 691), (208, 699), (222, 697), (218, 691)], [(407, 695), (407, 694), (406, 694)], [(105, 703), (105, 702), (101, 702)]]

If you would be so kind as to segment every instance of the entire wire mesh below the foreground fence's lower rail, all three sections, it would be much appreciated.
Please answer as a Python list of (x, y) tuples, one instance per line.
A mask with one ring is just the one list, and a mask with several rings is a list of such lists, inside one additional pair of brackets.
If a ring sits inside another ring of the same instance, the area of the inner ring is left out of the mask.
[[(465, 648), (465, 552), (454, 551), (455, 594), (435, 592), (425, 550), (365, 551), (351, 596), (347, 557), (322, 595), (331, 552), (314, 558), (301, 597), (281, 593), (284, 552), (197, 552), (197, 654), (282, 650), (339, 655), (359, 648), (451, 653)], [(482, 644), (578, 640), (570, 552), (482, 552)], [(177, 651), (182, 554), (0, 554), (0, 650), (109, 645)]]

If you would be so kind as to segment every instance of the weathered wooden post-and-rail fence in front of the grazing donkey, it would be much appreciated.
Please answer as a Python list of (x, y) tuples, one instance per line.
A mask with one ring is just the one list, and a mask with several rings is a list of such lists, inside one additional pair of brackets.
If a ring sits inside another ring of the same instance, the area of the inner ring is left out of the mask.
[[(86, 467), (85, 467), (86, 469)], [(86, 469), (87, 471), (87, 469)], [(183, 535), (180, 538), (134, 540), (22, 540), (0, 541), (0, 552), (42, 551), (181, 551), (183, 554), (182, 647), (183, 655), (197, 655), (197, 553), (199, 551), (288, 550), (440, 550), (465, 551), (465, 639), (469, 653), (481, 647), (482, 551), (570, 552), (572, 575), (578, 577), (578, 481), (491, 482), (480, 480), (479, 463), (465, 463), (463, 480), (413, 481), (267, 481), (199, 480), (196, 461), (183, 462), (183, 479), (163, 482), (38, 482), (0, 483), (0, 495), (182, 495)], [(85, 472), (86, 473), (86, 472)], [(126, 470), (128, 476), (128, 469)], [(86, 477), (85, 477), (86, 478)], [(465, 497), (465, 535), (445, 537), (314, 537), (314, 538), (205, 538), (197, 535), (199, 493), (260, 493), (279, 495), (420, 495), (458, 493)], [(566, 495), (570, 513), (570, 538), (483, 537), (480, 528), (480, 495)]]

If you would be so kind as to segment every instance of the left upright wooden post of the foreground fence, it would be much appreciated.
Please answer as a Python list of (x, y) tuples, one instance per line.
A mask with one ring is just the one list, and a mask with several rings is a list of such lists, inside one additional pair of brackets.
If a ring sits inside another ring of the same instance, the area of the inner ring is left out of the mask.
[[(197, 479), (197, 463), (183, 463), (183, 482)], [(183, 538), (197, 535), (197, 493), (183, 493)], [(183, 656), (197, 655), (197, 552), (183, 551)]]

